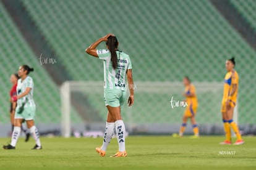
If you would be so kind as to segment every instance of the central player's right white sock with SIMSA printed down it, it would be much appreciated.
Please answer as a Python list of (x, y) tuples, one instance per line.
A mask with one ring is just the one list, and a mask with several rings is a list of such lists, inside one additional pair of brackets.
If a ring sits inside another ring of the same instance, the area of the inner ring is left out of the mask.
[(124, 121), (117, 120), (114, 123), (116, 127), (116, 138), (119, 146), (119, 152), (124, 152), (126, 150), (126, 127), (124, 126)]

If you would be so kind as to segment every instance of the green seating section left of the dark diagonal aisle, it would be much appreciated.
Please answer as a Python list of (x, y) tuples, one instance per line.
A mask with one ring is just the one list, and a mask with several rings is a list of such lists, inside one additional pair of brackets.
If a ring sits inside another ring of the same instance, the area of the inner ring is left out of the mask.
[[(0, 25), (0, 51), (1, 62), (0, 70), (2, 76), (0, 81), (0, 120), (1, 123), (9, 122), (9, 90), (12, 84), (9, 82), (9, 76), (18, 70), (22, 64), (30, 65), (35, 68), (31, 76), (35, 83), (34, 98), (36, 102), (36, 121), (40, 123), (58, 123), (60, 122), (60, 97), (59, 89), (54, 84), (51, 76), (40, 65), (39, 59), (35, 57), (32, 49), (24, 41), (19, 30), (7, 14), (6, 9), (0, 2), (1, 25)], [(80, 122), (79, 116), (72, 110), (72, 121)]]

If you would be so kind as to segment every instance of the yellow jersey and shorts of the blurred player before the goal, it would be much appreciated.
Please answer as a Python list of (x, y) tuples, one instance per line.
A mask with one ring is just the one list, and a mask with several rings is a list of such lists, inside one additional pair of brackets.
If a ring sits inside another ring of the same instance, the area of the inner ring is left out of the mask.
[(187, 102), (187, 108), (185, 110), (184, 115), (187, 117), (195, 116), (197, 113), (197, 95), (195, 93), (195, 86), (193, 84), (190, 84), (189, 86), (186, 86), (185, 88), (185, 94), (195, 94), (193, 97), (186, 97)]

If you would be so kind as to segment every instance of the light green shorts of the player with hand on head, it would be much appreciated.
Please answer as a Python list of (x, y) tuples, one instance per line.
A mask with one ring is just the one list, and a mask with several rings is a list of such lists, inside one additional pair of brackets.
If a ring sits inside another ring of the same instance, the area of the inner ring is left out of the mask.
[(104, 89), (104, 100), (106, 106), (124, 107), (126, 104), (126, 91), (121, 89)]

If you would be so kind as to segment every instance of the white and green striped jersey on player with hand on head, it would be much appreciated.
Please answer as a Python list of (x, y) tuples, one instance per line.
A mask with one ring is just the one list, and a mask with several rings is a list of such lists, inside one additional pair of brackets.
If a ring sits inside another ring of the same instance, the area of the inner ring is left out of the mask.
[(104, 88), (122, 89), (126, 91), (126, 71), (132, 69), (132, 62), (129, 55), (121, 51), (116, 51), (117, 68), (112, 67), (111, 53), (106, 49), (98, 49), (99, 59), (103, 60), (104, 64)]

